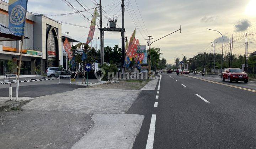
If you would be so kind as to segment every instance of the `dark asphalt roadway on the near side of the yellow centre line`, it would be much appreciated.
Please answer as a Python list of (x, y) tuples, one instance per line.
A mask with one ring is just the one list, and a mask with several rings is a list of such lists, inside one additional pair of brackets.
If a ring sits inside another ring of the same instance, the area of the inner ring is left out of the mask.
[(145, 115), (133, 148), (256, 148), (256, 92), (216, 82), (162, 74), (127, 112)]

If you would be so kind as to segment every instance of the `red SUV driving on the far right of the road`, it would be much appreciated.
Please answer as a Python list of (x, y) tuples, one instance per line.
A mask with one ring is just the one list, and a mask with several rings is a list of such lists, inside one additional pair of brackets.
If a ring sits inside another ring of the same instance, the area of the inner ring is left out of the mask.
[(222, 81), (225, 81), (225, 79), (228, 79), (228, 82), (244, 81), (244, 83), (247, 83), (248, 75), (240, 68), (228, 68), (222, 73)]

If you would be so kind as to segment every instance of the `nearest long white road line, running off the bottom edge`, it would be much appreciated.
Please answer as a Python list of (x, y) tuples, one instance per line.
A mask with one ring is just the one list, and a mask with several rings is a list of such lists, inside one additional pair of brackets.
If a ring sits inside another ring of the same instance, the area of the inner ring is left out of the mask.
[(155, 137), (155, 121), (156, 121), (156, 114), (152, 114), (146, 149), (153, 149), (154, 137)]

